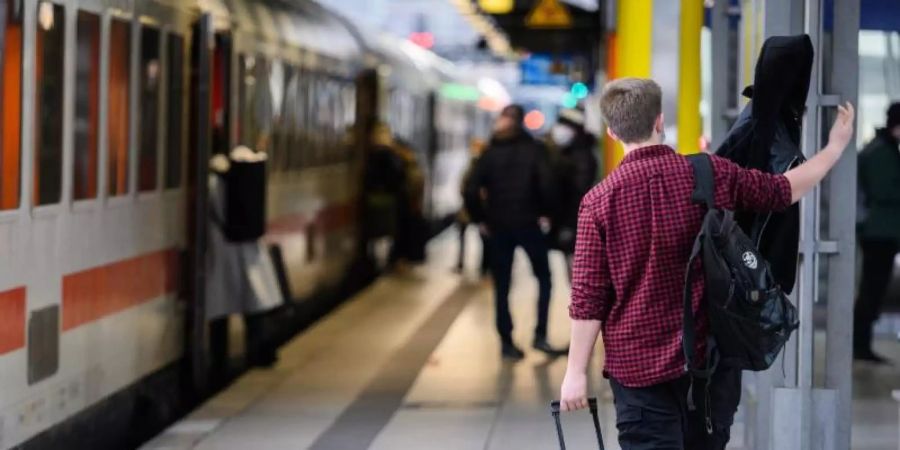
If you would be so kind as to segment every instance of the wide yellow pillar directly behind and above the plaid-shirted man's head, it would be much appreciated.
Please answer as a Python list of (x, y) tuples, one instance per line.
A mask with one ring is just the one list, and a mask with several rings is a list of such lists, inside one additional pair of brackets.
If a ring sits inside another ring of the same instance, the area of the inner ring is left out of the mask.
[[(615, 67), (608, 68), (614, 78), (650, 78), (653, 52), (653, 0), (616, 2)], [(607, 145), (604, 171), (612, 172), (622, 160), (622, 147)]]

